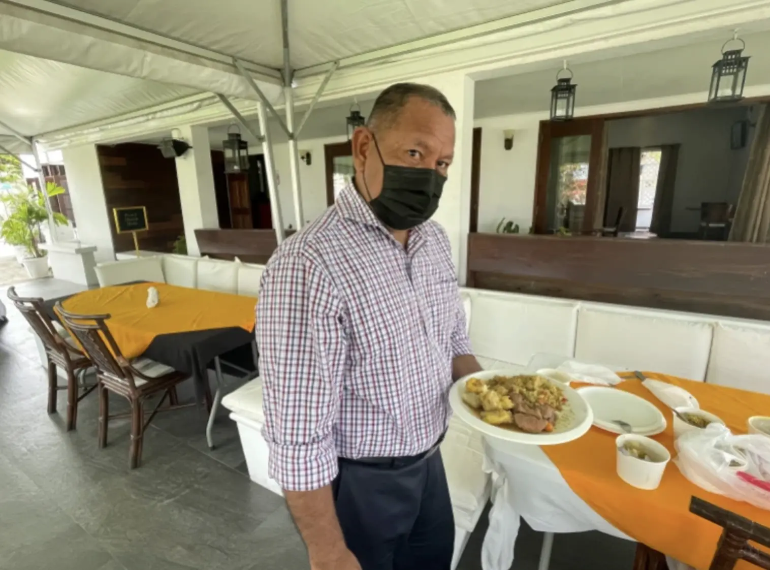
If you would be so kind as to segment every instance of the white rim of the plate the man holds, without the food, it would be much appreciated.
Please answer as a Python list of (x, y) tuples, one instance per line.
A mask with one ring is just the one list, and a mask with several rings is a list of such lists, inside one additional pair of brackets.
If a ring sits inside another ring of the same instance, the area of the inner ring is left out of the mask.
[(555, 381), (547, 379), (552, 384), (560, 387), (564, 391), (564, 397), (567, 398), (567, 405), (570, 408), (572, 417), (571, 421), (565, 423), (564, 421), (557, 422), (557, 426), (554, 431), (547, 434), (527, 434), (524, 431), (514, 431), (506, 428), (498, 428), (495, 425), (487, 424), (486, 421), (482, 421), (480, 417), (477, 417), (470, 407), (465, 404), (462, 399), (463, 391), (465, 390), (465, 383), (470, 378), (480, 378), (481, 380), (490, 380), (495, 376), (518, 376), (521, 374), (519, 370), (488, 370), (483, 372), (477, 372), (476, 374), (469, 374), (460, 378), (454, 383), (449, 393), (449, 403), (462, 421), (470, 425), (471, 428), (480, 431), (482, 434), (487, 435), (490, 438), (498, 438), (505, 441), (514, 441), (520, 444), (530, 445), (556, 445), (564, 444), (567, 441), (580, 438), (586, 431), (591, 429), (591, 423), (594, 421), (594, 414), (591, 412), (591, 407), (581, 397), (577, 391), (574, 391), (571, 387), (564, 386)]

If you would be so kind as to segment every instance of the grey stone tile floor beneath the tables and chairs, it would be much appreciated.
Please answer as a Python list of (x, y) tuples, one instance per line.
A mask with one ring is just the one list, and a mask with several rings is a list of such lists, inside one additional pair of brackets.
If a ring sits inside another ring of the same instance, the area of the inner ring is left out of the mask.
[[(17, 287), (47, 298), (79, 289), (53, 279)], [(99, 450), (94, 397), (82, 402), (70, 433), (62, 415), (45, 413), (34, 340), (15, 310), (8, 315), (0, 329), (0, 570), (308, 568), (283, 500), (246, 476), (226, 414), (216, 425), (215, 451), (206, 446), (202, 412), (159, 415), (146, 434), (142, 467), (129, 471), (129, 424), (112, 421), (108, 447)], [(484, 520), (460, 570), (480, 568)], [(522, 530), (515, 570), (537, 568), (541, 541), (540, 533)], [(631, 568), (633, 553), (633, 544), (598, 533), (560, 535), (551, 568)]]

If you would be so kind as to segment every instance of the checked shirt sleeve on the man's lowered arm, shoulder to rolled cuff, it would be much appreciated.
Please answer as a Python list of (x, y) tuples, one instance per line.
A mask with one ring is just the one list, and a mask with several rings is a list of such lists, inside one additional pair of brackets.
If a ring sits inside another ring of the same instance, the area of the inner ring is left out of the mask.
[(310, 257), (297, 253), (269, 263), (256, 341), (269, 474), (288, 491), (328, 485), (338, 469), (333, 426), (346, 343), (340, 297)]

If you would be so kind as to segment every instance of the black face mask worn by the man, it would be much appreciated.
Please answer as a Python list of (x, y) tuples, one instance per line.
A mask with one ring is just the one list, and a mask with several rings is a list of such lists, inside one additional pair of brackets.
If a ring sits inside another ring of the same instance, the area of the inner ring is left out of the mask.
[(385, 164), (377, 139), (373, 140), (383, 163), (382, 191), (369, 202), (374, 215), (393, 230), (409, 230), (430, 220), (438, 208), (447, 177), (432, 168)]

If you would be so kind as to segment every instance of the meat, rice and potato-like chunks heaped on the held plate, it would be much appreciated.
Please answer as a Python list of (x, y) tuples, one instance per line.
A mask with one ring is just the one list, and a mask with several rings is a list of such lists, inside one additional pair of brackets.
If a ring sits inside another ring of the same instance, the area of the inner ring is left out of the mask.
[(567, 402), (561, 387), (537, 374), (470, 378), (462, 398), (487, 424), (530, 434), (553, 431)]

